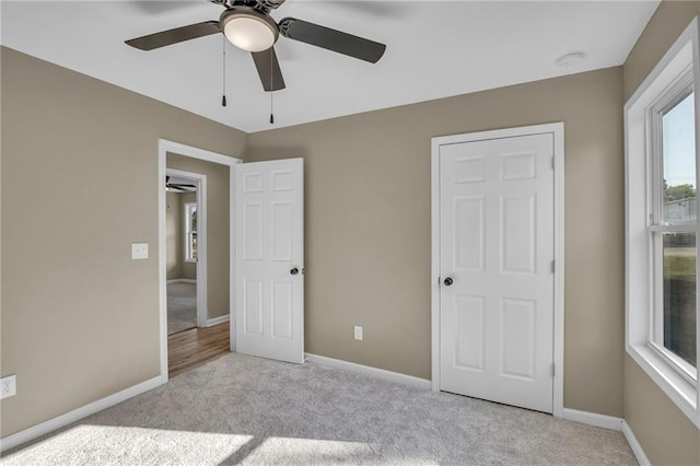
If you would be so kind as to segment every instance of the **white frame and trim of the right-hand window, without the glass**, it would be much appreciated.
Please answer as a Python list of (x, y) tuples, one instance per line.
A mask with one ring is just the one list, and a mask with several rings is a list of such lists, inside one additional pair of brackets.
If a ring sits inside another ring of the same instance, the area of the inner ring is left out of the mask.
[[(637, 92), (625, 105), (625, 175), (626, 175), (626, 349), (630, 357), (661, 387), (661, 389), (700, 427), (697, 371), (687, 371), (684, 361), (660, 347), (654, 335), (655, 290), (653, 277), (657, 271), (652, 236), (664, 231), (699, 231), (700, 219), (692, 224), (666, 225), (660, 220), (658, 193), (655, 186), (661, 175), (661, 141), (655, 129), (658, 112), (667, 108), (673, 98), (687, 86), (691, 74), (696, 93), (696, 160), (700, 142), (700, 81), (699, 21), (693, 19), (676, 43), (664, 55)], [(698, 167), (697, 167), (698, 168)], [(696, 175), (697, 179), (700, 176)], [(650, 217), (650, 213), (652, 214)], [(700, 275), (699, 275), (700, 276)], [(696, 307), (696, 316), (698, 308)], [(700, 318), (697, 318), (700, 335)], [(698, 345), (696, 345), (698, 351)], [(700, 356), (700, 351), (698, 354)], [(684, 370), (686, 369), (686, 370)]]

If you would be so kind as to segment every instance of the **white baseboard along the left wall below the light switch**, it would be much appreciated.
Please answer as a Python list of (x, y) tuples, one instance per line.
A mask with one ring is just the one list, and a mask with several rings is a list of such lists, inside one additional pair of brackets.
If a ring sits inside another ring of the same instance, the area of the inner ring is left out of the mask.
[(78, 409), (66, 412), (65, 415), (58, 416), (54, 419), (49, 419), (48, 421), (44, 421), (28, 429), (24, 429), (18, 433), (13, 433), (12, 435), (4, 436), (0, 439), (0, 452), (14, 448), (15, 446), (22, 445), (23, 443), (30, 442), (42, 435), (46, 435), (47, 433), (50, 433), (57, 429), (79, 421), (82, 418), (94, 415), (95, 412), (102, 411), (103, 409), (107, 409), (110, 406), (125, 401), (162, 384), (163, 380), (159, 375), (145, 382), (141, 382), (138, 385), (133, 385), (129, 388), (122, 389), (121, 392), (117, 392), (114, 395), (109, 395), (85, 406), (82, 406)]

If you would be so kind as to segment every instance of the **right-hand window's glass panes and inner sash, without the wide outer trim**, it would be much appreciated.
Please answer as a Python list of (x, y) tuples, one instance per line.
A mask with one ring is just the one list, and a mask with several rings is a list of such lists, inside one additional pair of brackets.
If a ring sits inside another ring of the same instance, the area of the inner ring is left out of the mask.
[(697, 381), (696, 132), (692, 73), (686, 72), (649, 115), (650, 347), (690, 383)]

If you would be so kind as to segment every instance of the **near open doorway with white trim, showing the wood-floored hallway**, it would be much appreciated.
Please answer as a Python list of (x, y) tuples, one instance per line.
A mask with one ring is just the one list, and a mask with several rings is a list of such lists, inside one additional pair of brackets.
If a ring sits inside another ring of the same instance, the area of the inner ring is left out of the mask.
[(237, 162), (160, 142), (163, 382), (230, 352), (231, 175)]

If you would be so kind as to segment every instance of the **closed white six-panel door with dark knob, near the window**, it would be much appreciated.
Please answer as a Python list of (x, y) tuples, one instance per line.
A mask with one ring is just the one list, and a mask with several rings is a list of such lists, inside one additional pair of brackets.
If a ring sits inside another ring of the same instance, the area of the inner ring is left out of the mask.
[(440, 147), (440, 388), (552, 412), (553, 135)]

